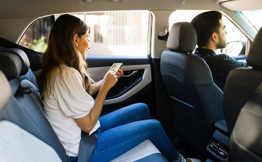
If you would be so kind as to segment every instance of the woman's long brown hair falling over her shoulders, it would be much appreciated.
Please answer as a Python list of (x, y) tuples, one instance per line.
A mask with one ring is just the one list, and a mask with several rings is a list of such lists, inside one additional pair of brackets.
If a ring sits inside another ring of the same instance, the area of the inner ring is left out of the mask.
[(41, 55), (41, 69), (36, 75), (36, 80), (39, 85), (39, 92), (43, 99), (46, 93), (49, 96), (48, 90), (51, 90), (51, 78), (53, 69), (58, 68), (59, 64), (75, 68), (79, 71), (83, 78), (83, 86), (85, 91), (92, 93), (91, 83), (93, 80), (87, 71), (87, 63), (83, 60), (83, 56), (74, 44), (74, 35), (77, 34), (80, 38), (90, 28), (84, 21), (70, 14), (64, 14), (57, 18), (52, 25), (48, 34), (47, 49)]

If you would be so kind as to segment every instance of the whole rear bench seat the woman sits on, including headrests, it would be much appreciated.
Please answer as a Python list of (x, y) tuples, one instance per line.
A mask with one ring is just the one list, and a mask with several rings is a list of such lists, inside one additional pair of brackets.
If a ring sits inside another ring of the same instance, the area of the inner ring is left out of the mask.
[[(69, 162), (69, 156), (44, 114), (27, 55), (19, 49), (0, 50), (0, 69), (12, 89), (0, 72), (0, 128), (5, 130), (0, 135), (0, 161)], [(8, 104), (7, 99), (2, 97), (5, 94), (10, 98)], [(3, 108), (6, 108), (4, 113), (1, 111)], [(167, 161), (150, 140), (112, 161), (136, 160)]]

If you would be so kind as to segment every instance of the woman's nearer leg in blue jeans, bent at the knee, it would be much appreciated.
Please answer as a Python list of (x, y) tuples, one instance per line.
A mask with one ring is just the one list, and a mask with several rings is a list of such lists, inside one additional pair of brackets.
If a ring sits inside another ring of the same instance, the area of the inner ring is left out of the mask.
[(178, 158), (161, 124), (157, 120), (143, 120), (100, 133), (89, 161), (111, 161), (147, 139), (153, 142), (167, 160), (175, 161)]

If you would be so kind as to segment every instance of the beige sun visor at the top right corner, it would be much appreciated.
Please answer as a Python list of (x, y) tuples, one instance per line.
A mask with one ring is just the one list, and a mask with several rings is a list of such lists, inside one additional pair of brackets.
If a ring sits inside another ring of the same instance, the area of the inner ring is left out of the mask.
[(257, 10), (262, 8), (261, 0), (230, 0), (221, 2), (220, 5), (232, 11)]

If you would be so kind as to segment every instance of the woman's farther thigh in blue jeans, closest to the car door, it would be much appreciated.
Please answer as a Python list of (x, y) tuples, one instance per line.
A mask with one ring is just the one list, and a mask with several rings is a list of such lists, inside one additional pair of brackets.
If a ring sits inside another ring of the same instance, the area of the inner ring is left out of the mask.
[(146, 119), (150, 119), (148, 106), (144, 103), (136, 103), (99, 117), (101, 125), (99, 129), (103, 132), (130, 122)]

